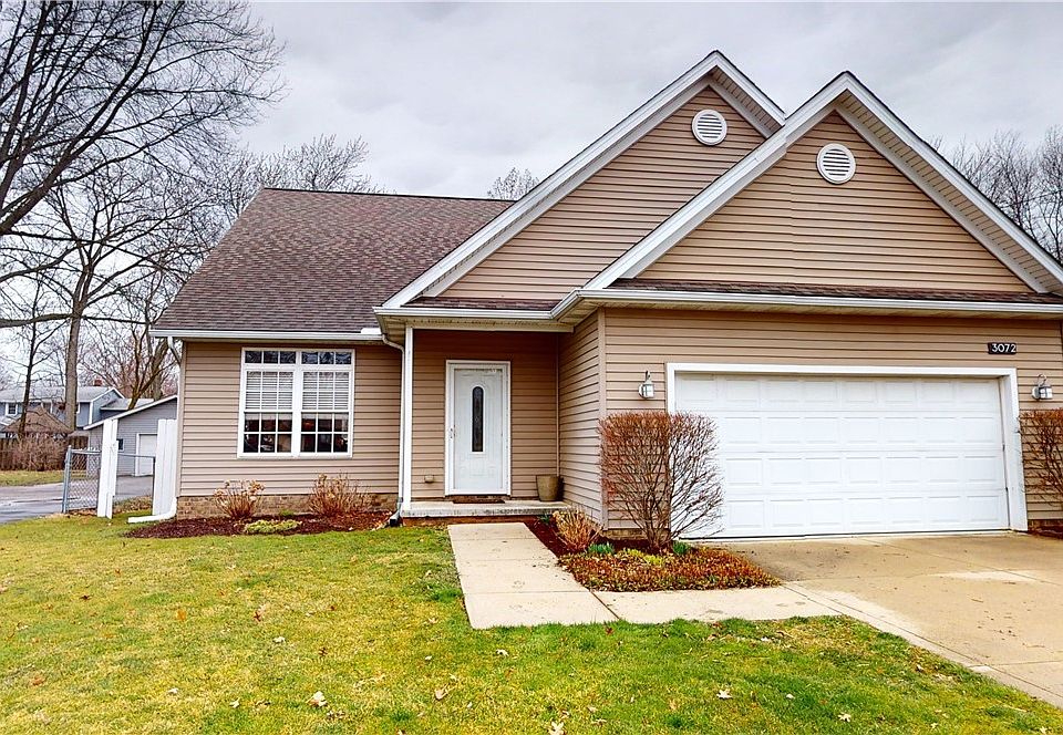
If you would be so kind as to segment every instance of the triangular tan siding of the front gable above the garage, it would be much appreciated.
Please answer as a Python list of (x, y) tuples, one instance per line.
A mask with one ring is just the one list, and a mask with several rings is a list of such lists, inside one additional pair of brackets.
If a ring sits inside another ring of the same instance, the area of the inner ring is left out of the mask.
[[(843, 143), (856, 175), (816, 154)], [(639, 278), (1029, 291), (837, 113)]]

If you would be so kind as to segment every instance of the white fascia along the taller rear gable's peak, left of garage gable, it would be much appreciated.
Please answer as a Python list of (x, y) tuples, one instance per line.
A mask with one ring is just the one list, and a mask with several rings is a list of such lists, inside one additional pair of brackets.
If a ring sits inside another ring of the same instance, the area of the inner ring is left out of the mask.
[(702, 79), (716, 68), (730, 76), (770, 115), (775, 117), (780, 125), (783, 125), (785, 115), (778, 106), (735, 69), (723, 54), (713, 51), (609, 132), (591, 143), (576, 157), (554, 172), (516, 204), (447, 253), (432, 268), (398, 291), (383, 306), (389, 309), (398, 308), (409, 303), (422, 293), (435, 296), (445, 290), (483, 258), (502, 247), (508, 239), (507, 236), (520, 231), (536, 217), (600, 170), (631, 143), (698, 94)]

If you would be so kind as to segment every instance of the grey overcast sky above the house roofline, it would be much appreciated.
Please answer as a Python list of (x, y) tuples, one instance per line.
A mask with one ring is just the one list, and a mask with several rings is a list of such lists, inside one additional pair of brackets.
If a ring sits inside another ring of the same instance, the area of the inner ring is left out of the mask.
[(1063, 6), (317, 4), (254, 8), (287, 44), (272, 151), (361, 136), (399, 193), (544, 177), (713, 49), (786, 112), (843, 70), (923, 137), (1063, 124)]

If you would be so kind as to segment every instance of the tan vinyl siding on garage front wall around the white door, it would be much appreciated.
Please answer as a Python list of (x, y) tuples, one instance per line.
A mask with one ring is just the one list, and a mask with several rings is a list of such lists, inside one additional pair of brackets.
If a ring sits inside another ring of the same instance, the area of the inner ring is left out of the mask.
[[(609, 411), (664, 408), (669, 362), (801, 365), (1015, 368), (1022, 410), (1050, 408), (1030, 390), (1043, 373), (1063, 385), (1060, 323), (1019, 319), (842, 317), (736, 312), (609, 310), (606, 340)], [(1016, 355), (989, 355), (985, 343), (1016, 342)], [(638, 396), (649, 370), (651, 401)], [(1031, 518), (1051, 510), (1028, 496)], [(1057, 515), (1057, 514), (1056, 514)]]

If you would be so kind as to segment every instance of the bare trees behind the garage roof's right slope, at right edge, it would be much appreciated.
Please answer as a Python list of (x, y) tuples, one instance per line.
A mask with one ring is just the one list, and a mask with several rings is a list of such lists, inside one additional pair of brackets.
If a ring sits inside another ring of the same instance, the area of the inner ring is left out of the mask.
[(1051, 128), (1033, 148), (1019, 133), (1003, 132), (984, 143), (961, 143), (946, 155), (1012, 221), (1063, 259), (1063, 128)]

